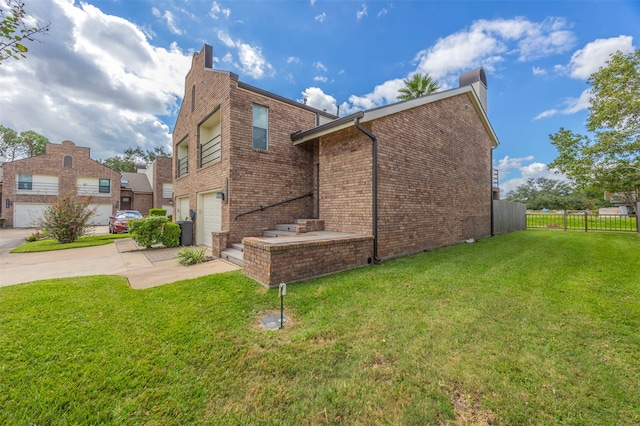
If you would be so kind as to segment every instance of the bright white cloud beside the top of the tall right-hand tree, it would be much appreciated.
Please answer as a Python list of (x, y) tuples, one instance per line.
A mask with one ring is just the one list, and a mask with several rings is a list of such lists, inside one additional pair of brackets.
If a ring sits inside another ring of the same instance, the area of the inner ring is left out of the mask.
[(633, 52), (633, 37), (621, 35), (594, 40), (582, 49), (576, 50), (566, 67), (557, 68), (564, 70), (572, 78), (586, 80), (605, 65), (610, 56), (618, 50), (622, 53)]

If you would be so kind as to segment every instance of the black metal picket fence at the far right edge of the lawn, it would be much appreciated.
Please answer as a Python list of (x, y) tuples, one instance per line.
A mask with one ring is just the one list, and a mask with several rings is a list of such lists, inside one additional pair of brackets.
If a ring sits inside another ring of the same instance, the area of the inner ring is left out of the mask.
[(579, 213), (527, 213), (527, 228), (565, 231), (640, 232), (637, 216)]

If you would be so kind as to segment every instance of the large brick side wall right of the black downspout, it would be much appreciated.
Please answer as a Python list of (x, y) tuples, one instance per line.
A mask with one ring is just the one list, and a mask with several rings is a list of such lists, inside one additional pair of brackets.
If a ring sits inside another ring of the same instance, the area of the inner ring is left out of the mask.
[(467, 94), (377, 120), (378, 254), (491, 234), (491, 140)]

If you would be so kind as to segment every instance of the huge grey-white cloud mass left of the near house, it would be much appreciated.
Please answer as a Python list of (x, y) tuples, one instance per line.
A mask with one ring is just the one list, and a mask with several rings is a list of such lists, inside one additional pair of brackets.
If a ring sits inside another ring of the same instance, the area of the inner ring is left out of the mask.
[(29, 6), (56, 25), (29, 47), (28, 60), (0, 67), (2, 124), (55, 143), (73, 140), (96, 159), (129, 146), (170, 150), (159, 117), (179, 108), (191, 52), (152, 46), (140, 27), (86, 3)]

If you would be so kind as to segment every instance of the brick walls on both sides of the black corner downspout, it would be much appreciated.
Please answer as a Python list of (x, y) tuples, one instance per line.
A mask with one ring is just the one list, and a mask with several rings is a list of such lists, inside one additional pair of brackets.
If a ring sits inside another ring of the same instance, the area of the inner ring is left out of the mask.
[[(364, 123), (378, 140), (378, 255), (491, 233), (491, 140), (467, 94)], [(371, 139), (355, 128), (322, 137), (320, 219), (372, 234)]]

